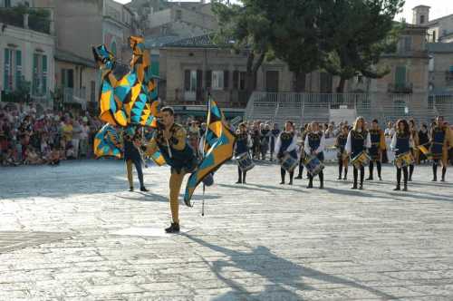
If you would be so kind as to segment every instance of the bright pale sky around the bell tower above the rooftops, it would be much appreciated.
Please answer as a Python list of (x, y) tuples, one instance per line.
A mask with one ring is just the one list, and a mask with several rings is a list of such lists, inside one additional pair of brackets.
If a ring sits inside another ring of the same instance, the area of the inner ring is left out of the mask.
[[(129, 3), (130, 0), (116, 0), (122, 4)], [(190, 1), (190, 0), (184, 0)], [(175, 1), (172, 1), (175, 2)], [(199, 2), (195, 0), (193, 2)], [(235, 2), (235, 0), (232, 0)], [(453, 0), (406, 0), (404, 10), (400, 15), (397, 15), (396, 19), (400, 20), (401, 17), (406, 18), (408, 23), (412, 22), (412, 8), (417, 5), (428, 5), (431, 6), (429, 11), (429, 19), (437, 19), (444, 15), (453, 14)]]

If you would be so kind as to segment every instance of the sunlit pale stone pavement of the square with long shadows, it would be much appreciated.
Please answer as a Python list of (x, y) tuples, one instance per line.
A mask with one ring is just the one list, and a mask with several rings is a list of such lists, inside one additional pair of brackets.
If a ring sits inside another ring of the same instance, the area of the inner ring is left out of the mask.
[(227, 164), (170, 236), (168, 168), (148, 193), (120, 161), (2, 168), (0, 300), (453, 300), (453, 169), (417, 167), (409, 192), (394, 171), (351, 190), (329, 166), (320, 190)]

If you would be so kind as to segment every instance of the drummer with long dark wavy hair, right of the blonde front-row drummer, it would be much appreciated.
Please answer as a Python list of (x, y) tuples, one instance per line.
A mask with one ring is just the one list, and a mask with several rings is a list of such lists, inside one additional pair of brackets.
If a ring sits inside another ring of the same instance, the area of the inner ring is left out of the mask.
[[(395, 158), (398, 158), (400, 154), (410, 152), (410, 150), (414, 147), (414, 142), (412, 140), (412, 136), (410, 134), (410, 128), (408, 121), (399, 120), (397, 122), (397, 131), (393, 135), (391, 139), (390, 149), (395, 150)], [(408, 190), (408, 180), (409, 180), (409, 173), (408, 167), (402, 166), (397, 167), (397, 186), (393, 190), (400, 190), (401, 189), (401, 170), (404, 177), (404, 187), (403, 190)]]

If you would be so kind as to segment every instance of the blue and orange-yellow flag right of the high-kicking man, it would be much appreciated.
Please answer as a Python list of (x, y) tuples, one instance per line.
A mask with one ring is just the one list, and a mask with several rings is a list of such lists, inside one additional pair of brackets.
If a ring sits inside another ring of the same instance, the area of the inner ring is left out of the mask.
[(224, 114), (217, 103), (209, 98), (207, 111), (207, 132), (205, 151), (197, 169), (188, 178), (184, 202), (191, 207), (190, 199), (198, 184), (210, 173), (218, 170), (223, 163), (233, 157), (235, 134), (228, 128)]

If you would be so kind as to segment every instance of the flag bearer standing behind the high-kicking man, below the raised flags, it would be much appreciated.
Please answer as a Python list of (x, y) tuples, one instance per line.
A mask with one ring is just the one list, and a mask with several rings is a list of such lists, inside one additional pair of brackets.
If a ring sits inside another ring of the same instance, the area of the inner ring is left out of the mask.
[(140, 155), (140, 131), (135, 127), (130, 127), (123, 132), (124, 143), (124, 160), (126, 161), (126, 169), (128, 171), (128, 181), (130, 191), (134, 190), (134, 182), (132, 179), (132, 164), (135, 165), (137, 175), (140, 181), (140, 191), (148, 191), (143, 183), (143, 170), (141, 169), (141, 155)]

